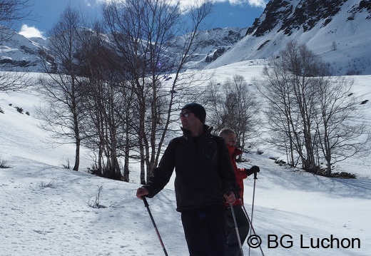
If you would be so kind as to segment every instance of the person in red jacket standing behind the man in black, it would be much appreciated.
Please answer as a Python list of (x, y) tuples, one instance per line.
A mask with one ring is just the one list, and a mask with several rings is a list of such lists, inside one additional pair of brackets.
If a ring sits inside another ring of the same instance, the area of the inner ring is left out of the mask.
[[(224, 138), (225, 144), (227, 145), (230, 160), (232, 161), (235, 179), (237, 184), (240, 188), (238, 191), (239, 199), (235, 200), (233, 203), (233, 210), (235, 213), (235, 219), (237, 222), (238, 233), (240, 235), (240, 242), (241, 245), (245, 242), (246, 237), (248, 237), (248, 232), (250, 229), (250, 225), (248, 222), (248, 218), (246, 217), (245, 213), (243, 212), (242, 204), (243, 204), (243, 180), (253, 173), (258, 173), (260, 171), (258, 166), (253, 166), (250, 169), (246, 168), (238, 168), (237, 164), (235, 163), (235, 159), (238, 155), (242, 154), (243, 151), (239, 148), (236, 148), (236, 135), (235, 131), (230, 128), (223, 128), (219, 132), (219, 136)], [(243, 255), (241, 252), (241, 248), (238, 242), (238, 236), (236, 235), (235, 230), (235, 222), (233, 220), (232, 210), (230, 209), (230, 205), (228, 205), (227, 209), (227, 220), (226, 220), (226, 230), (227, 230), (227, 253), (226, 256), (239, 256)]]

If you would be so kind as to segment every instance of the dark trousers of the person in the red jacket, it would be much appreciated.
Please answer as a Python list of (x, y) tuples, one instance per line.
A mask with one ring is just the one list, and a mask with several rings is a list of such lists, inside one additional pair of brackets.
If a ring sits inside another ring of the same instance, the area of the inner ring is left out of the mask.
[[(235, 220), (237, 221), (238, 234), (240, 234), (241, 245), (245, 242), (246, 237), (248, 237), (248, 232), (250, 230), (250, 225), (248, 223), (248, 218), (243, 212), (241, 205), (233, 206), (235, 211)], [(227, 249), (226, 256), (240, 256), (243, 255), (240, 252), (240, 245), (238, 244), (237, 232), (235, 232), (235, 222), (233, 220), (232, 210), (227, 209)]]

